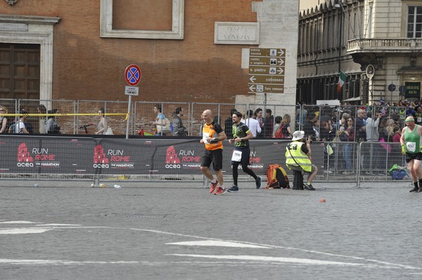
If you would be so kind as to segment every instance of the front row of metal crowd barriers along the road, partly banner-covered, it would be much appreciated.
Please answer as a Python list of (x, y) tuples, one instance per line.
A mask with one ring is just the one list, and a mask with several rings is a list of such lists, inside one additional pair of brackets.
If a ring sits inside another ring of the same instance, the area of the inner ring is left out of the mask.
[[(266, 178), (269, 164), (280, 164), (293, 182), (293, 172), (285, 164), (287, 143), (288, 140), (251, 140), (250, 168)], [(312, 163), (319, 169), (316, 182), (347, 181), (359, 186), (362, 180), (391, 180), (390, 165), (404, 166), (397, 143), (346, 143), (312, 143)], [(230, 182), (234, 145), (228, 140), (223, 145), (224, 180)], [(350, 145), (351, 169), (346, 169), (343, 145)], [(0, 179), (205, 181), (200, 171), (204, 150), (200, 138), (1, 135), (0, 149)], [(240, 180), (251, 180), (242, 172), (239, 175)]]

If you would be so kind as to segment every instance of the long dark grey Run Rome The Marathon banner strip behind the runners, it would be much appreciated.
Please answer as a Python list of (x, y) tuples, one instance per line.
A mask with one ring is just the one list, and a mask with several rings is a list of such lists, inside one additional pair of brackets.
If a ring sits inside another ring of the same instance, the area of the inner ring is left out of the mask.
[[(250, 168), (285, 167), (286, 140), (251, 140)], [(234, 145), (223, 142), (223, 171), (231, 174)], [(313, 163), (324, 163), (324, 146), (312, 145)], [(321, 149), (317, 149), (317, 147)], [(198, 175), (204, 146), (199, 138), (78, 138), (1, 135), (1, 173)], [(239, 167), (241, 168), (241, 167)]]

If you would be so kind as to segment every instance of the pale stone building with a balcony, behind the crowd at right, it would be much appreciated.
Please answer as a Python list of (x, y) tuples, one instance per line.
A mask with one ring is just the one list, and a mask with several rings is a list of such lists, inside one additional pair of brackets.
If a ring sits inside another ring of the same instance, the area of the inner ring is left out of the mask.
[[(304, 2), (299, 15), (298, 100), (371, 104), (380, 98), (421, 99), (422, 1)], [(347, 80), (338, 91), (340, 70)]]

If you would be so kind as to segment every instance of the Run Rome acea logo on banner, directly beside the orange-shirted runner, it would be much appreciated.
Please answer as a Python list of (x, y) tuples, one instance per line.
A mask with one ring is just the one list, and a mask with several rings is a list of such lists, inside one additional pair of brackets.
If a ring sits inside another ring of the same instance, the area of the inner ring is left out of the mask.
[(165, 154), (165, 168), (200, 168), (200, 156), (196, 155), (194, 149), (179, 149), (174, 146), (167, 148)]

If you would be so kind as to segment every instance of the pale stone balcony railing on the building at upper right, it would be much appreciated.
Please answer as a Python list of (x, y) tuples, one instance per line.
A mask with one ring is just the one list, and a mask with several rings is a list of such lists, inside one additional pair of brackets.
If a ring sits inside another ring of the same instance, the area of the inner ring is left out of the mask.
[(377, 38), (353, 39), (347, 42), (347, 53), (413, 53), (422, 51), (422, 39)]

